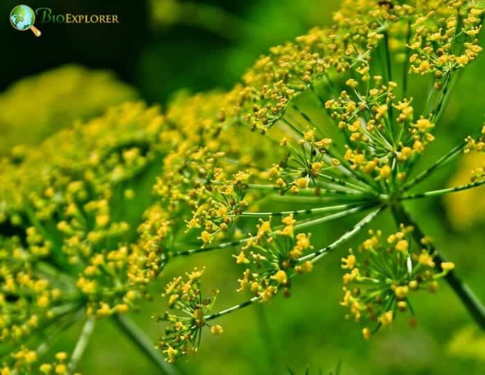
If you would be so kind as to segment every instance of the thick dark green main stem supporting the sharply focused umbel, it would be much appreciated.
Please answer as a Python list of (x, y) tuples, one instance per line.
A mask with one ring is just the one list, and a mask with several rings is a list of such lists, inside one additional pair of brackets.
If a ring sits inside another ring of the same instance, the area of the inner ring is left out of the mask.
[[(411, 216), (409, 216), (409, 213), (407, 213), (403, 205), (397, 203), (391, 206), (391, 209), (397, 225), (404, 224), (414, 227), (414, 231), (412, 232), (414, 241), (420, 244), (421, 240), (425, 237), (425, 234), (423, 234), (421, 228), (418, 227), (416, 222), (411, 218)], [(445, 257), (438, 250), (436, 250), (433, 245), (431, 245), (431, 252), (436, 254), (434, 261), (436, 263), (436, 267), (440, 269), (441, 263), (446, 261)], [(475, 322), (477, 322), (477, 324), (485, 330), (485, 308), (482, 303), (479, 302), (470, 288), (468, 288), (468, 286), (457, 277), (455, 271), (448, 272), (444, 278), (452, 290), (455, 291), (470, 315), (472, 315)]]

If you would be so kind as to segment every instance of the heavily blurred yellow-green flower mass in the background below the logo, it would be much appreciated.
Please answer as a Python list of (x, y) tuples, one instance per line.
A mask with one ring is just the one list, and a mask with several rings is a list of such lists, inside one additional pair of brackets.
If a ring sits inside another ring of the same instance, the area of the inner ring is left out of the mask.
[(137, 98), (109, 71), (65, 65), (19, 80), (0, 94), (0, 155), (19, 143), (35, 144), (74, 120)]

